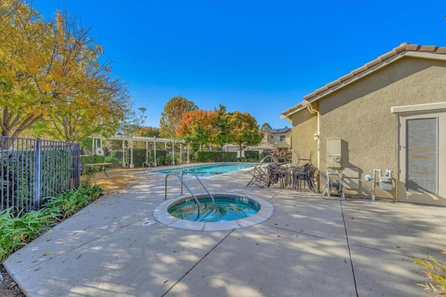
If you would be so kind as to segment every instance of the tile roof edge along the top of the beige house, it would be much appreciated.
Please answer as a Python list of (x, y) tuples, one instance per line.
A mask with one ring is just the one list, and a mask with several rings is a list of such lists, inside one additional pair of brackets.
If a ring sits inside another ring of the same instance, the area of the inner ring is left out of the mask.
[[(351, 79), (352, 77), (357, 76), (358, 74), (362, 74), (363, 72), (367, 72), (367, 70), (370, 70), (371, 67), (374, 67), (378, 65), (379, 63), (383, 63), (389, 58), (392, 58), (394, 56), (397, 56), (397, 54), (403, 53), (403, 51), (417, 51), (417, 52), (425, 52), (425, 53), (431, 53), (431, 54), (446, 54), (446, 47), (436, 47), (435, 45), (411, 45), (409, 43), (402, 43), (398, 47), (395, 47), (391, 51), (388, 51), (387, 53), (378, 56), (378, 58), (362, 65), (361, 67), (351, 71), (350, 73), (339, 77), (339, 79), (335, 79), (334, 81), (327, 83), (325, 86), (318, 88), (317, 90), (314, 90), (314, 92), (309, 93), (308, 95), (304, 96), (304, 101), (311, 101), (314, 99), (314, 97), (321, 95), (321, 93), (330, 90), (331, 88), (337, 87), (341, 85), (341, 83), (344, 83), (346, 80)], [(303, 103), (303, 104), (302, 104)], [(300, 104), (297, 104), (290, 109), (287, 109), (282, 113), (282, 118), (286, 117), (288, 115), (291, 115), (291, 113), (300, 110), (302, 107), (304, 107), (306, 104), (304, 102), (301, 102)]]

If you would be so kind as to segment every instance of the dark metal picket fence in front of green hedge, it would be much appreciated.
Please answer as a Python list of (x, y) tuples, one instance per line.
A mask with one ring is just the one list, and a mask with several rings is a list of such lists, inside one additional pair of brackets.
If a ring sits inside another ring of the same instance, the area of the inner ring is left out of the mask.
[(77, 188), (78, 143), (0, 136), (1, 211), (38, 210), (45, 198)]

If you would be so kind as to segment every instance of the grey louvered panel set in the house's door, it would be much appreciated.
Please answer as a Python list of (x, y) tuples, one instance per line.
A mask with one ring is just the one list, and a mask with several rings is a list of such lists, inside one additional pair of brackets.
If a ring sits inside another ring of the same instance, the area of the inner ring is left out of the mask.
[(406, 191), (438, 194), (438, 119), (406, 123)]

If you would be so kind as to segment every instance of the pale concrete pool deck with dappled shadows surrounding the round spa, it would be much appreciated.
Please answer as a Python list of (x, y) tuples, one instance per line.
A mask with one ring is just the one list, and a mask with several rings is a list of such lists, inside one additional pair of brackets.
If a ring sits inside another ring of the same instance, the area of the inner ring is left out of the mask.
[[(267, 200), (274, 214), (243, 229), (182, 230), (153, 216), (164, 177), (141, 175), (3, 263), (26, 296), (422, 296), (410, 258), (444, 259), (442, 207), (246, 187), (249, 176), (234, 172), (202, 180), (212, 193)], [(172, 178), (169, 198), (178, 196)]]

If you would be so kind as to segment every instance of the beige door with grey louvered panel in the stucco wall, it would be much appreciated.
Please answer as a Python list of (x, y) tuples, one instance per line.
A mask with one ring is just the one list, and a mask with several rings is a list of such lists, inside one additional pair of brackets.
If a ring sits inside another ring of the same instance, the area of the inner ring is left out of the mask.
[(446, 206), (445, 120), (445, 112), (398, 116), (398, 201)]

